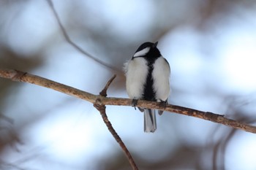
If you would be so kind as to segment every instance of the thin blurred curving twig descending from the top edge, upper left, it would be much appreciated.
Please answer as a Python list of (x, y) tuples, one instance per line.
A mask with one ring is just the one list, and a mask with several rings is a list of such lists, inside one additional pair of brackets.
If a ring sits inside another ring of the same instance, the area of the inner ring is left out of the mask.
[(105, 66), (108, 69), (112, 69), (113, 71), (116, 72), (120, 72), (120, 70), (114, 66), (111, 66), (108, 63), (105, 63), (104, 61), (99, 60), (98, 58), (94, 57), (93, 55), (91, 55), (90, 53), (86, 52), (86, 50), (83, 50), (81, 47), (79, 47), (78, 45), (75, 44), (75, 42), (72, 41), (72, 39), (70, 39), (69, 34), (67, 34), (66, 29), (64, 28), (64, 26), (61, 23), (61, 20), (59, 18), (58, 13), (56, 12), (56, 9), (54, 8), (53, 5), (53, 1), (52, 0), (45, 0), (48, 2), (50, 9), (53, 11), (53, 15), (57, 20), (57, 23), (59, 25), (59, 27), (61, 28), (61, 32), (64, 35), (64, 38), (66, 39), (66, 41), (69, 43), (69, 45), (72, 45), (72, 47), (75, 47), (76, 50), (78, 50), (80, 53), (88, 56), (89, 58), (91, 58), (93, 61), (96, 61), (97, 63), (101, 64), (102, 66)]

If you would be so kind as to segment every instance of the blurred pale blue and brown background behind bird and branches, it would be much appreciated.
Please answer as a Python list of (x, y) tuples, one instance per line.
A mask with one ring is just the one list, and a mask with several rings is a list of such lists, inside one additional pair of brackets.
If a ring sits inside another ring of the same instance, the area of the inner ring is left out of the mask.
[[(124, 63), (159, 41), (171, 66), (170, 104), (256, 125), (256, 1), (0, 1), (0, 68), (127, 98)], [(90, 56), (94, 59), (91, 59)], [(96, 61), (95, 61), (96, 60)], [(157, 131), (143, 114), (107, 106), (139, 169), (256, 169), (256, 135), (165, 112)], [(0, 169), (131, 169), (87, 101), (0, 78)]]

